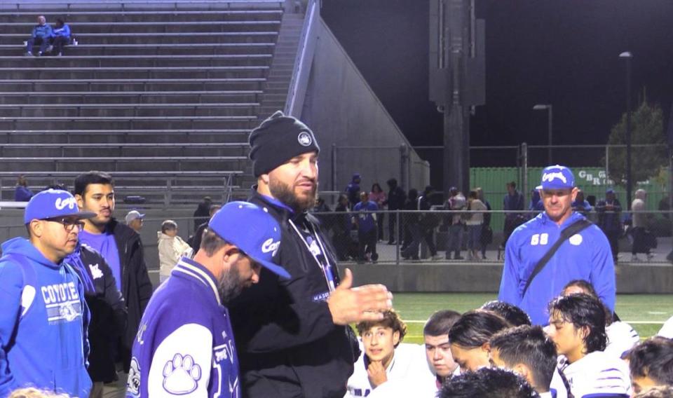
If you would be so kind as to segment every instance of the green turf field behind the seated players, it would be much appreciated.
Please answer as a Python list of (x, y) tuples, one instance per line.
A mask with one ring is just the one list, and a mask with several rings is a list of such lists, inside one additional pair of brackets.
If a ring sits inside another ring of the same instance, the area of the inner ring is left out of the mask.
[[(393, 306), (407, 322), (407, 343), (423, 342), (423, 322), (436, 310), (464, 313), (496, 299), (491, 293), (396, 293)], [(620, 294), (616, 313), (631, 324), (641, 338), (655, 335), (661, 324), (673, 315), (671, 294)]]

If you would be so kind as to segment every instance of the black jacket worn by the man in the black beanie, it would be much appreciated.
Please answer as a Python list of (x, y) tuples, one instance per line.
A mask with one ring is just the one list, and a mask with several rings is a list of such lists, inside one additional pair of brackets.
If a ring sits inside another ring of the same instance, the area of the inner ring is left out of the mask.
[(274, 262), (292, 277), (280, 280), (261, 268), (259, 283), (229, 303), (243, 396), (344, 397), (358, 343), (350, 327), (332, 322), (325, 274), (289, 220), (297, 228), (314, 226), (338, 284), (337, 261), (327, 236), (310, 214), (293, 214), (256, 192), (250, 202), (266, 207), (280, 224)]

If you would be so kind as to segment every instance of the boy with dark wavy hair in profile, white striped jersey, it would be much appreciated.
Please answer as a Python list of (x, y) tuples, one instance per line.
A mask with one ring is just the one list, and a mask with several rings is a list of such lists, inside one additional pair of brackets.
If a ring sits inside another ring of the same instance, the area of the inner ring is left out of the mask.
[(556, 344), (560, 369), (575, 397), (629, 397), (631, 380), (621, 359), (606, 347), (603, 304), (588, 294), (559, 296), (549, 303), (548, 334)]

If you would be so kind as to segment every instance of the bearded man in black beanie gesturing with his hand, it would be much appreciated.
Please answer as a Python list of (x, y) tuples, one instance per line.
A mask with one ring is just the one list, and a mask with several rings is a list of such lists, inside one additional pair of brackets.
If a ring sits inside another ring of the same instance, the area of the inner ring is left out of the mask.
[(344, 397), (360, 354), (348, 324), (381, 320), (392, 295), (382, 285), (351, 289), (350, 270), (341, 280), (332, 245), (307, 213), (320, 152), (311, 129), (278, 111), (252, 130), (250, 147), (257, 177), (250, 202), (278, 220), (273, 261), (292, 278), (262, 268), (259, 284), (231, 303), (243, 396)]

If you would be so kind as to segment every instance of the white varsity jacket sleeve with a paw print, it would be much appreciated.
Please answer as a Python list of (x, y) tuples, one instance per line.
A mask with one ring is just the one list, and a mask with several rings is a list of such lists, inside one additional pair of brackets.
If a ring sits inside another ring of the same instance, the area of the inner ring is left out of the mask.
[(184, 324), (161, 341), (147, 379), (150, 397), (208, 397), (212, 333), (200, 324)]

